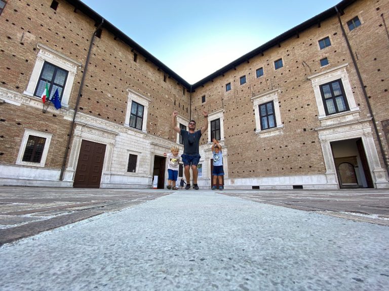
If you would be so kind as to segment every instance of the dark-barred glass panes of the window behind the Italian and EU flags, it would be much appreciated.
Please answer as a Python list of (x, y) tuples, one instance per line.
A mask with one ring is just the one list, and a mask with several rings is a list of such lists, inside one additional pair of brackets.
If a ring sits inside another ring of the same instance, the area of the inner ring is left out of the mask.
[(67, 71), (45, 62), (42, 68), (41, 76), (39, 77), (38, 85), (35, 89), (34, 96), (42, 96), (47, 82), (50, 99), (53, 97), (55, 90), (58, 89), (59, 100), (62, 100), (63, 88), (65, 87), (67, 73)]

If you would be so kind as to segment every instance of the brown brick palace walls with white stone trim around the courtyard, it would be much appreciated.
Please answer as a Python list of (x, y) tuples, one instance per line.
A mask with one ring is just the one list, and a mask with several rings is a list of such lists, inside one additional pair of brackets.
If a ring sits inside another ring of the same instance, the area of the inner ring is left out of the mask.
[[(7, 170), (7, 174), (0, 176), (3, 184), (71, 186), (81, 141), (88, 139), (107, 144), (102, 187), (151, 187), (155, 157), (169, 152), (177, 142), (177, 134), (170, 125), (172, 111), (178, 110), (185, 122), (195, 119), (200, 128), (202, 111), (206, 109), (210, 120), (220, 118), (222, 122), (226, 188), (337, 188), (340, 182), (336, 158), (355, 155), (357, 176), (364, 175), (360, 170), (362, 154), (352, 154), (357, 150), (347, 153), (339, 143), (341, 140), (348, 140), (345, 148), (353, 149), (362, 140), (372, 186), (389, 187), (387, 161), (383, 158), (388, 159), (388, 144), (382, 126), (389, 119), (386, 102), (389, 37), (385, 26), (385, 20), (389, 23), (385, 19), (389, 3), (343, 1), (347, 5), (340, 20), (346, 37), (336, 14), (323, 16), (292, 37), (280, 36), (277, 45), (264, 45), (264, 50), (255, 56), (250, 55), (239, 64), (226, 66), (225, 71), (193, 84), (192, 92), (174, 72), (150, 60), (135, 45), (129, 45), (124, 37), (118, 36), (117, 30), (103, 25), (101, 36), (95, 37), (92, 45), (61, 181), (61, 166), (90, 40), (101, 22), (93, 12), (84, 14), (70, 3), (58, 1), (54, 10), (50, 7), (51, 0), (9, 1), (0, 16), (3, 27), (0, 98), (5, 101), (0, 105), (0, 166)], [(361, 26), (349, 31), (346, 22), (356, 16)], [(320, 49), (319, 40), (326, 37), (331, 45)], [(36, 85), (32, 76), (40, 54), (76, 68), (71, 75), (72, 84), (66, 84), (71, 88), (68, 103), (63, 103), (60, 110), (50, 106), (43, 113), (40, 98), (29, 91)], [(328, 59), (328, 65), (321, 65), (323, 58)], [(283, 67), (276, 69), (275, 61), (279, 59)], [(257, 78), (259, 68), (263, 68), (263, 75)], [(246, 83), (241, 85), (242, 76), (246, 77)], [(326, 80), (339, 78), (350, 109), (326, 115), (318, 88)], [(231, 85), (229, 91), (227, 83)], [(281, 122), (276, 128), (261, 130), (258, 105), (266, 100), (278, 107), (275, 109)], [(134, 101), (143, 102), (147, 109), (144, 130), (128, 124)], [(17, 162), (26, 129), (52, 135), (44, 167)], [(201, 139), (203, 176), (199, 184), (203, 187), (211, 186), (210, 148), (206, 132)], [(138, 156), (136, 173), (126, 172), (129, 154)], [(38, 178), (43, 170), (51, 171), (48, 176), (53, 178)], [(356, 186), (369, 186), (365, 178), (358, 176), (358, 179)]]

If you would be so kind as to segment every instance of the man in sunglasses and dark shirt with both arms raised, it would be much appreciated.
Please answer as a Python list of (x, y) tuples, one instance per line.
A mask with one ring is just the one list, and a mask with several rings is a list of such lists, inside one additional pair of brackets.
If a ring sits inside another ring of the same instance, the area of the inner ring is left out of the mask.
[(198, 130), (196, 129), (196, 121), (190, 120), (188, 125), (188, 131), (184, 129), (180, 129), (177, 126), (176, 118), (178, 112), (174, 111), (172, 115), (172, 127), (173, 129), (181, 134), (182, 141), (184, 143), (184, 153), (181, 155), (182, 162), (184, 163), (184, 174), (186, 178), (186, 186), (185, 189), (190, 189), (190, 168), (192, 168), (193, 173), (193, 189), (199, 190), (199, 186), (197, 184), (197, 177), (199, 172), (197, 170), (197, 165), (200, 161), (200, 137), (201, 135), (208, 129), (208, 112), (203, 111), (204, 115), (204, 126)]

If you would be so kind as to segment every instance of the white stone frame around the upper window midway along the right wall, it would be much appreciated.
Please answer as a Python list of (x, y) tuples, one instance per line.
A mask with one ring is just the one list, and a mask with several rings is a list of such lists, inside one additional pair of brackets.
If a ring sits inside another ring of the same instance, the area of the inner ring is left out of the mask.
[[(251, 98), (253, 101), (253, 109), (255, 113), (255, 126), (256, 130), (255, 133), (258, 134), (260, 137), (266, 137), (266, 136), (271, 136), (271, 135), (276, 135), (276, 134), (282, 134), (284, 125), (282, 124), (282, 119), (281, 119), (281, 112), (280, 112), (280, 106), (279, 106), (279, 98), (278, 94), (280, 93), (280, 89), (274, 89), (267, 91), (265, 93), (256, 95)], [(276, 115), (276, 127), (268, 128), (268, 129), (263, 129), (261, 130), (261, 116), (259, 114), (259, 105), (273, 101), (274, 105), (274, 113)]]

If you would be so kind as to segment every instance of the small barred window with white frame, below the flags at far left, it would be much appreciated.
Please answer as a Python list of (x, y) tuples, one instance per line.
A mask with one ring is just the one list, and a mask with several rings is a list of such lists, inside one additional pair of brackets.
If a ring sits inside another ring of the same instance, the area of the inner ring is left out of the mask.
[(16, 165), (44, 167), (52, 135), (25, 129)]

